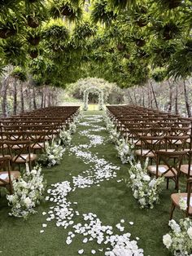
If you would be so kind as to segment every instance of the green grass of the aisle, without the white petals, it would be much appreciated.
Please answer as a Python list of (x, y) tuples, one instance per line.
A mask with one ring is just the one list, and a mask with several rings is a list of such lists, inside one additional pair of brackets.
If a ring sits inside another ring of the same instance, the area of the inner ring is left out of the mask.
[[(87, 112), (86, 114), (101, 114), (100, 112)], [(83, 120), (84, 121), (84, 120)], [(97, 125), (103, 126), (103, 122)], [(89, 143), (89, 139), (79, 132), (85, 130), (86, 126), (79, 126), (72, 139), (72, 147), (75, 145)], [(128, 179), (129, 165), (121, 165), (116, 157), (114, 145), (107, 141), (107, 131), (95, 131), (94, 135), (104, 137), (104, 144), (98, 144), (96, 147), (89, 148), (89, 152), (97, 154), (98, 158), (104, 158), (113, 166), (120, 166), (117, 170), (117, 177), (114, 179), (104, 179), (100, 186), (93, 184), (90, 188), (76, 188), (74, 192), (68, 195), (68, 201), (77, 202), (72, 208), (80, 213), (75, 217), (75, 223), (82, 223), (82, 214), (94, 213), (102, 221), (103, 225), (111, 225), (115, 234), (130, 232), (131, 240), (139, 237), (137, 242), (139, 248), (144, 249), (144, 255), (166, 256), (169, 255), (167, 249), (164, 249), (162, 236), (168, 232), (168, 216), (170, 210), (170, 193), (172, 189), (165, 189), (160, 196), (160, 204), (155, 206), (154, 210), (141, 210), (137, 201), (133, 199), (132, 193), (126, 187), (124, 181)], [(51, 169), (44, 169), (44, 175), (48, 188), (52, 183), (69, 181), (72, 183), (72, 176), (77, 176), (85, 170), (89, 170), (93, 164), (85, 164), (81, 158), (76, 158), (72, 152), (65, 152), (61, 165)], [(85, 175), (85, 174), (84, 174)], [(4, 195), (0, 198), (0, 255), (5, 256), (76, 256), (78, 250), (84, 249), (83, 255), (90, 256), (91, 249), (97, 250), (95, 255), (104, 255), (108, 245), (98, 245), (97, 241), (82, 243), (85, 238), (82, 235), (76, 235), (70, 245), (66, 245), (68, 232), (72, 231), (72, 226), (65, 229), (56, 227), (55, 219), (47, 222), (47, 214), (51, 205), (54, 203), (45, 201), (37, 208), (37, 214), (34, 214), (24, 221), (20, 218), (8, 217), (9, 208)], [(175, 214), (177, 215), (177, 214)], [(72, 218), (73, 219), (73, 218)], [(116, 228), (116, 224), (124, 219), (124, 232)], [(133, 222), (130, 225), (129, 222)], [(42, 224), (47, 227), (43, 228)], [(40, 233), (44, 230), (43, 233)], [(103, 252), (98, 249), (103, 248)]]

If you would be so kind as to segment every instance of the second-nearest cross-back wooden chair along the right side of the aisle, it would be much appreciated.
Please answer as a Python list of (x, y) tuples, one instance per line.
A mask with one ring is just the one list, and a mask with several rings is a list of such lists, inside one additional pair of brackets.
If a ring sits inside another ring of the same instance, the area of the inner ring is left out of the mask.
[(185, 151), (155, 152), (156, 165), (148, 166), (147, 169), (151, 175), (155, 175), (156, 178), (164, 176), (167, 179), (167, 189), (169, 179), (172, 179), (176, 184), (176, 189), (179, 189), (179, 174), (181, 170), (181, 162), (185, 156)]

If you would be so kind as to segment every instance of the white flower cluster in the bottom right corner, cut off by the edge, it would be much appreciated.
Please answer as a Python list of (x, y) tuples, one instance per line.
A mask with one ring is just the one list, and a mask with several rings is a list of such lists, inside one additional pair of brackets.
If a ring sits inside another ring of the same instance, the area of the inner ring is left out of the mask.
[(177, 224), (173, 219), (168, 225), (172, 231), (163, 236), (164, 245), (177, 256), (190, 256), (192, 253), (192, 221), (190, 218), (182, 218)]

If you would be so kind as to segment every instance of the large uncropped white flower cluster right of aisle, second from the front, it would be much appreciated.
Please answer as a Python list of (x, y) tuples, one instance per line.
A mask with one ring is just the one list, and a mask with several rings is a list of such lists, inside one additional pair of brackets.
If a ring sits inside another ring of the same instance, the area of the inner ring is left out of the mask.
[(143, 167), (141, 163), (130, 162), (130, 182), (128, 186), (132, 188), (133, 196), (137, 199), (141, 208), (152, 209), (154, 204), (159, 202), (159, 184), (164, 182), (164, 177), (151, 179), (147, 174), (148, 161), (148, 158), (146, 158)]

